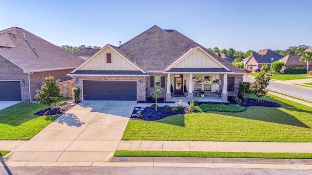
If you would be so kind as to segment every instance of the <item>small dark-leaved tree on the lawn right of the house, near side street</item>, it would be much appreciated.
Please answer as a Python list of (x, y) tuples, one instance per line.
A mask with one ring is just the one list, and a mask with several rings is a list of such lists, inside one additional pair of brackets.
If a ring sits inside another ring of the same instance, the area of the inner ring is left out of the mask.
[(257, 96), (258, 102), (260, 102), (260, 97), (268, 93), (265, 88), (268, 87), (271, 77), (266, 77), (264, 72), (260, 72), (254, 79), (255, 81), (251, 84), (250, 88), (255, 96)]

